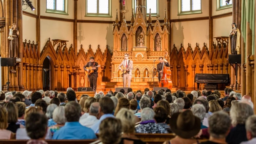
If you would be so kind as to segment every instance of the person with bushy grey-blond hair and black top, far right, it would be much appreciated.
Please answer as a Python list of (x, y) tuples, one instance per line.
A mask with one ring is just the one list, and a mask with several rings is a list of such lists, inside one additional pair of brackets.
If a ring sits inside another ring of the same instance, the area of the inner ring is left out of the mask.
[(242, 141), (247, 141), (245, 121), (254, 114), (253, 109), (246, 103), (234, 103), (229, 114), (233, 128), (226, 137), (227, 143), (239, 144)]

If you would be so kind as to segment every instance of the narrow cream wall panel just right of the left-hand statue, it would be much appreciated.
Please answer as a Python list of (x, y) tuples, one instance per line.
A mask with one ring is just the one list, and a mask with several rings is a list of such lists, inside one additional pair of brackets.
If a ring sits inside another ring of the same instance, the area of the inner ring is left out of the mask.
[[(36, 18), (23, 15), (22, 17), (22, 26), (23, 26), (23, 37), (22, 41), (25, 42), (25, 39), (27, 42), (29, 40), (34, 41), (36, 43)], [(19, 29), (19, 26), (18, 26)]]

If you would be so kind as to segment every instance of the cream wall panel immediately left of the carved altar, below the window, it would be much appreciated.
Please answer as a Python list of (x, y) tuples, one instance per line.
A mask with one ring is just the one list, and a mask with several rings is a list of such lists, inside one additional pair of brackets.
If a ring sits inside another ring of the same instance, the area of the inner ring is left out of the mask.
[(97, 24), (97, 23), (78, 23), (77, 24), (77, 47), (80, 49), (81, 44), (85, 52), (89, 45), (93, 51), (96, 51), (98, 45), (102, 52), (105, 51), (106, 45), (109, 45), (113, 51), (114, 37), (112, 24)]

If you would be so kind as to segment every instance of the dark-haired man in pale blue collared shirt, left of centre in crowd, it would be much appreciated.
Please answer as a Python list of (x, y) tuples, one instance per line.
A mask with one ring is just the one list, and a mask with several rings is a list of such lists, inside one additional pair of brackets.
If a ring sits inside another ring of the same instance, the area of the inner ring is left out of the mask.
[(102, 97), (99, 99), (99, 121), (92, 125), (91, 129), (94, 133), (99, 133), (99, 124), (107, 117), (115, 117), (112, 113), (114, 111), (114, 102), (110, 97)]

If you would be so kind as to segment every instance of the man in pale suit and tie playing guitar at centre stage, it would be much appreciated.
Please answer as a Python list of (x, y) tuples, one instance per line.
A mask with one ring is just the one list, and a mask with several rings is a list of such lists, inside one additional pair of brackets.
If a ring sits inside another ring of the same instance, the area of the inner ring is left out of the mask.
[[(129, 54), (124, 54), (124, 60), (118, 66), (119, 70), (123, 72), (123, 79), (124, 79), (124, 87), (126, 87), (126, 82), (128, 83), (128, 88), (131, 86), (131, 79), (132, 79), (132, 70), (133, 70), (133, 61), (129, 60)], [(121, 68), (123, 66), (123, 69)]]

